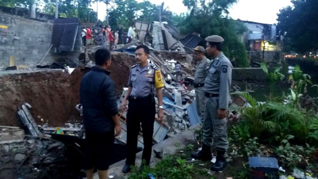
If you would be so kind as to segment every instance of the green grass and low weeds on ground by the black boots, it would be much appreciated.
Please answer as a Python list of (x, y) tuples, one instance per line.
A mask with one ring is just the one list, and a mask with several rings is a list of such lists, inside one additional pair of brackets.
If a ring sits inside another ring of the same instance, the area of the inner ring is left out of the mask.
[(244, 178), (246, 169), (242, 157), (233, 158), (222, 173), (210, 171), (210, 161), (191, 161), (190, 153), (197, 149), (197, 141), (190, 143), (183, 149), (179, 149), (174, 155), (163, 158), (154, 168), (144, 168), (138, 171), (133, 169), (129, 179), (149, 179), (153, 174), (156, 179), (225, 179)]

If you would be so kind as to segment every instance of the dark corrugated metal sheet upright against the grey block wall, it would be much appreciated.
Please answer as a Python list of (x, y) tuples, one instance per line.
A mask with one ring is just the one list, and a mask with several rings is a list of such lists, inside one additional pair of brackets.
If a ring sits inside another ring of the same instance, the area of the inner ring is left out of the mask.
[(55, 19), (52, 43), (59, 51), (74, 51), (79, 31), (79, 18)]

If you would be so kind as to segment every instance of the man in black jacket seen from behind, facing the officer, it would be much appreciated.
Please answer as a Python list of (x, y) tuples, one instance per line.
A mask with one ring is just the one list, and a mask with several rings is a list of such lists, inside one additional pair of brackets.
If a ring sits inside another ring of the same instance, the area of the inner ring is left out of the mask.
[(99, 179), (106, 179), (114, 136), (120, 134), (121, 127), (116, 89), (107, 71), (111, 64), (109, 50), (98, 49), (95, 64), (80, 83), (85, 127), (83, 169), (87, 179), (93, 179), (94, 168), (97, 169)]

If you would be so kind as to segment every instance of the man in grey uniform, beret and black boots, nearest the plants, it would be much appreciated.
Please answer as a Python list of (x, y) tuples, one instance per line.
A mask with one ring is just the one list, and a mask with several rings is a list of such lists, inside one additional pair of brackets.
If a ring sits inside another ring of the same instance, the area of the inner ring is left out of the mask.
[[(230, 88), (233, 66), (222, 52), (224, 39), (212, 35), (207, 41), (206, 52), (213, 57), (204, 82), (206, 95), (205, 119), (203, 122), (203, 144), (200, 152), (192, 152), (191, 157), (200, 160), (211, 160), (211, 146), (217, 150), (216, 162), (212, 171), (222, 171), (227, 161), (224, 157), (229, 147), (227, 134), (227, 109), (229, 108)], [(214, 134), (214, 138), (213, 138)]]

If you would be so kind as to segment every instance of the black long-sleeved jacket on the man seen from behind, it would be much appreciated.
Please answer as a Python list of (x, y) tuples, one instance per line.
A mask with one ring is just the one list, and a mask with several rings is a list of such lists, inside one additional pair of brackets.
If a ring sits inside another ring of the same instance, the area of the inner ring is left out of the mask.
[(80, 102), (83, 106), (85, 130), (104, 133), (114, 130), (112, 116), (118, 113), (116, 89), (110, 72), (92, 67), (80, 82)]

